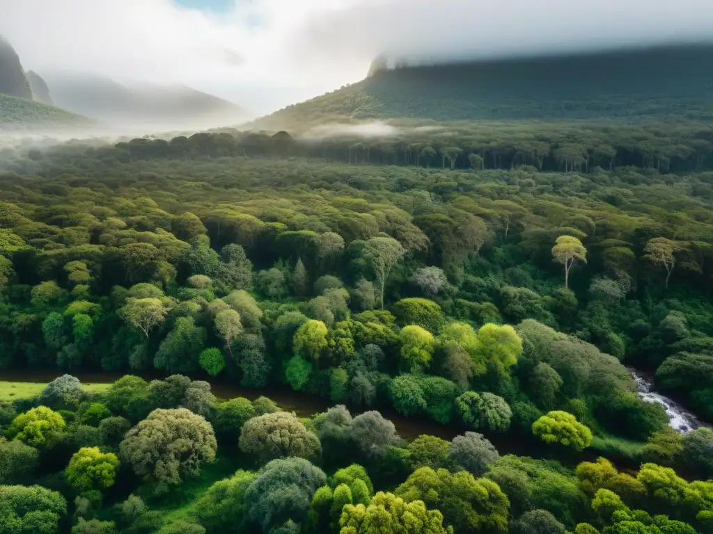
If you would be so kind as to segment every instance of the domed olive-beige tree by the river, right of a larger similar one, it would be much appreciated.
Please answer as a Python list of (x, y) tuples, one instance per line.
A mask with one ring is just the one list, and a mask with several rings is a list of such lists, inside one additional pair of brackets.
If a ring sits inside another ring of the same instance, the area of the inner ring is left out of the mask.
[(287, 458), (317, 458), (322, 445), (317, 436), (299, 422), (294, 414), (276, 412), (253, 417), (240, 433), (240, 450), (262, 460)]

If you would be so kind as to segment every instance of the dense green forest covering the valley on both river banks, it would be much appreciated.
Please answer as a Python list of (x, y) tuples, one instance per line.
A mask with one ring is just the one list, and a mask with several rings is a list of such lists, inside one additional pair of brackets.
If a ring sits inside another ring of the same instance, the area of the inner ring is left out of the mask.
[(0, 533), (713, 532), (713, 431), (624, 367), (713, 420), (710, 135), (4, 149), (0, 365), (128, 375), (2, 405)]

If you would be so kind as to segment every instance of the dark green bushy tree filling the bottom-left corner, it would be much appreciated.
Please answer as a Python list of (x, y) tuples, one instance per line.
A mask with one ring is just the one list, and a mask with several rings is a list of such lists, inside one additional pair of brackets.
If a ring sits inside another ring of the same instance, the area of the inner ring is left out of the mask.
[(0, 533), (56, 534), (67, 513), (57, 491), (42, 486), (0, 486)]

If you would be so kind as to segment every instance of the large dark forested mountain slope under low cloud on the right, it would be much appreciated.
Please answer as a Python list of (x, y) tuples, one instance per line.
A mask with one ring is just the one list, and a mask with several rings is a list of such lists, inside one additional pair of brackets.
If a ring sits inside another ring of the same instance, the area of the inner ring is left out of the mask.
[(713, 44), (389, 70), (252, 123), (421, 120), (713, 120)]

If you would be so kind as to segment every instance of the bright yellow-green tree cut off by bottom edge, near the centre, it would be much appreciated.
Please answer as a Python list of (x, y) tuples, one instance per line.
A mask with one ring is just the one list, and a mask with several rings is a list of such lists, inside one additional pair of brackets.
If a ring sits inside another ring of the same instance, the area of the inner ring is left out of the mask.
[(363, 504), (344, 506), (339, 518), (341, 534), (446, 534), (443, 514), (427, 510), (423, 501), (406, 503), (393, 493), (379, 491)]

